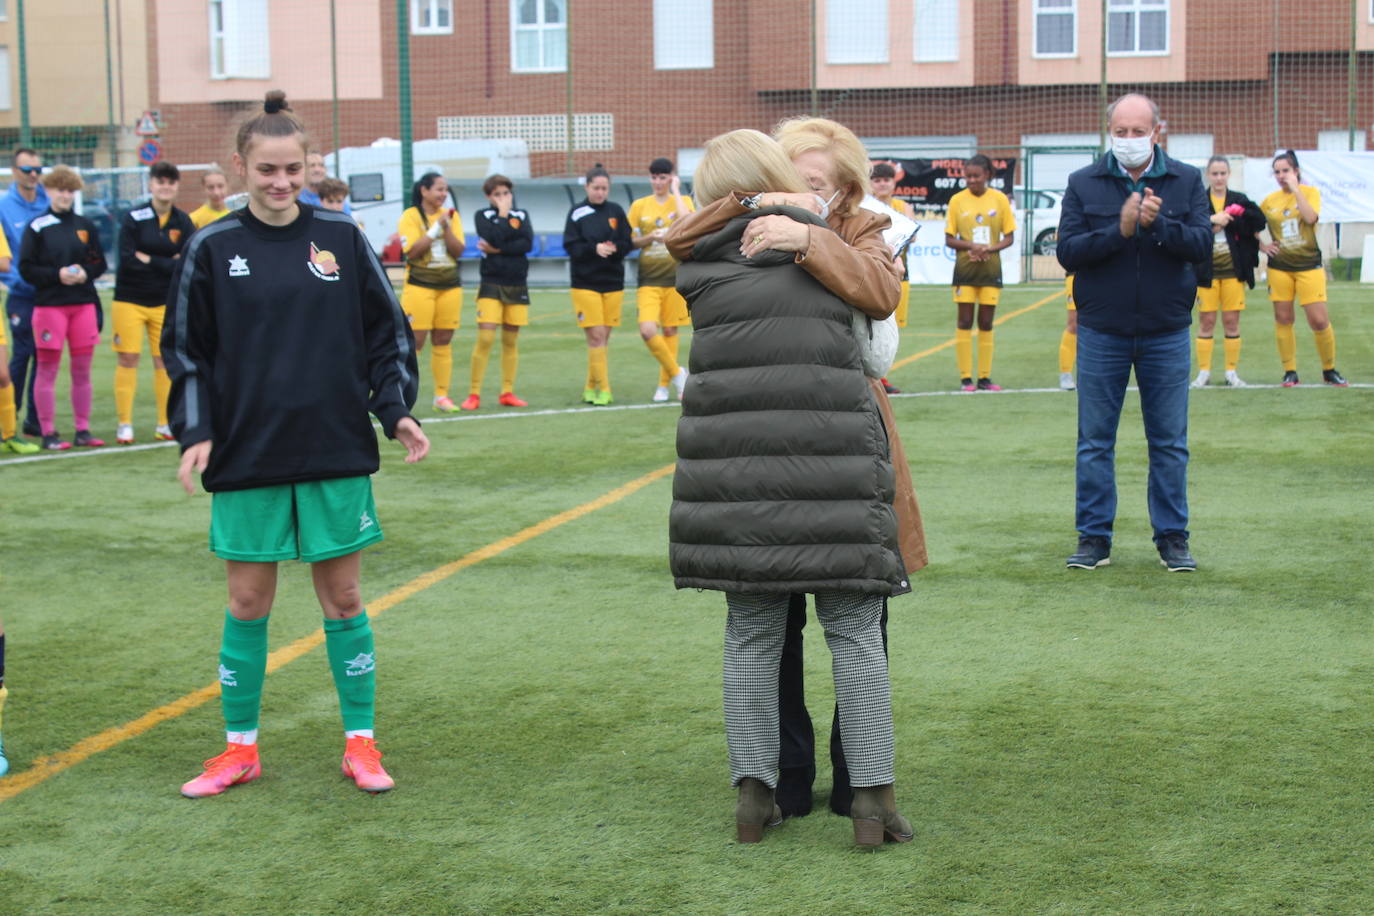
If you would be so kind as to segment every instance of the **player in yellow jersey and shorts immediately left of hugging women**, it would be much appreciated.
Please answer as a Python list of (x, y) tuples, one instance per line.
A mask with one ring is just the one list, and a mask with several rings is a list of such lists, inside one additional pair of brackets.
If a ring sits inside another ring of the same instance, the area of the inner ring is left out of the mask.
[(668, 386), (683, 396), (687, 369), (677, 364), (677, 328), (691, 324), (687, 301), (677, 293), (677, 260), (668, 254), (664, 236), (673, 220), (695, 207), (682, 192), (672, 159), (658, 157), (649, 163), (654, 192), (629, 205), (631, 243), (639, 249), (639, 336), (658, 361), (655, 401), (668, 400)]

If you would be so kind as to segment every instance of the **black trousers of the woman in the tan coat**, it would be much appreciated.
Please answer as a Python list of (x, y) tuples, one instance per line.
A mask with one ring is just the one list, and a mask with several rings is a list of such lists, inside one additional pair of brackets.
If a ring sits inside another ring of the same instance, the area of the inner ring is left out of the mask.
[[(816, 781), (816, 731), (807, 710), (805, 673), (802, 667), (802, 630), (807, 628), (807, 596), (793, 595), (787, 606), (787, 636), (782, 644), (778, 667), (778, 766), (782, 779), (808, 788)], [(888, 600), (882, 602), (882, 651), (888, 652)], [(834, 769), (833, 794), (849, 788), (849, 766), (840, 740), (840, 706), (830, 721), (830, 765)], [(789, 772), (791, 770), (791, 772)]]

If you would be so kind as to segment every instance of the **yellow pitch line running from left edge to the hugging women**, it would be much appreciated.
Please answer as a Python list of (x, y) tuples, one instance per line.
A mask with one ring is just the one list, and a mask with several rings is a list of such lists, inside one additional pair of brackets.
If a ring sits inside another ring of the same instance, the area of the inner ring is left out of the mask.
[[(482, 560), (489, 560), (493, 556), (504, 553), (513, 547), (519, 547), (521, 544), (525, 544), (526, 541), (539, 537), (540, 534), (547, 534), (548, 531), (552, 531), (554, 529), (562, 525), (567, 525), (569, 522), (576, 522), (577, 519), (585, 515), (591, 515), (598, 509), (603, 509), (607, 505), (618, 503), (627, 496), (638, 490), (642, 490), (654, 481), (662, 479), (672, 472), (673, 472), (672, 464), (664, 466), (657, 471), (651, 471), (640, 478), (631, 481), (629, 483), (624, 483), (621, 486), (617, 486), (614, 490), (598, 496), (591, 503), (583, 503), (581, 505), (559, 512), (558, 515), (551, 515), (543, 522), (530, 525), (529, 527), (517, 531), (515, 534), (503, 537), (499, 541), (492, 541), (486, 547), (480, 547), (471, 553), (467, 553), (466, 556), (462, 556), (453, 560), (452, 563), (445, 563), (444, 566), (430, 570), (429, 573), (418, 575), (405, 585), (401, 585), (387, 592), (382, 597), (376, 599), (375, 602), (371, 602), (367, 606), (368, 614), (375, 618), (383, 611), (396, 607), (401, 602), (419, 595), (425, 589), (438, 585), (440, 582), (453, 575), (455, 573), (466, 570), (470, 566), (477, 566)], [(290, 645), (283, 645), (282, 648), (268, 655), (267, 670), (271, 673), (283, 667), (284, 665), (290, 665), (291, 662), (305, 655), (323, 641), (324, 641), (324, 630), (317, 629), (309, 636), (302, 636)], [(206, 684), (205, 687), (194, 689), (184, 696), (179, 696), (177, 699), (172, 700), (170, 703), (166, 703), (165, 706), (159, 706), (155, 710), (144, 713), (143, 715), (131, 722), (125, 722), (124, 725), (115, 725), (114, 728), (107, 728), (98, 735), (92, 735), (91, 737), (84, 737), (71, 747), (69, 747), (67, 750), (60, 751), (58, 754), (40, 757), (38, 759), (33, 761), (33, 765), (29, 766), (29, 769), (23, 770), (22, 773), (12, 775), (7, 777), (4, 781), (0, 781), (0, 802), (5, 802), (23, 791), (33, 788), (34, 786), (45, 781), (52, 776), (56, 776), (65, 769), (76, 766), (77, 764), (85, 761), (87, 758), (95, 754), (107, 751), (111, 747), (122, 744), (124, 742), (132, 737), (137, 737), (143, 732), (151, 729), (154, 725), (165, 722), (170, 718), (176, 718), (184, 713), (190, 713), (191, 710), (203, 706), (205, 703), (210, 702), (218, 695), (220, 695), (218, 683)]]

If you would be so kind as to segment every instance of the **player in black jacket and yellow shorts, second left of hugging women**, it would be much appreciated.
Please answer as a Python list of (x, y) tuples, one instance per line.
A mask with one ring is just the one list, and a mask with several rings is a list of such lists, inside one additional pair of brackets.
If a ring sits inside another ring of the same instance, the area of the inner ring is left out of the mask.
[(629, 217), (610, 196), (610, 173), (598, 162), (587, 173), (587, 198), (573, 205), (563, 225), (563, 249), (572, 275), (573, 312), (587, 335), (587, 387), (583, 401), (611, 402), (606, 347), (610, 330), (620, 327), (625, 298), (625, 255), (633, 247)]

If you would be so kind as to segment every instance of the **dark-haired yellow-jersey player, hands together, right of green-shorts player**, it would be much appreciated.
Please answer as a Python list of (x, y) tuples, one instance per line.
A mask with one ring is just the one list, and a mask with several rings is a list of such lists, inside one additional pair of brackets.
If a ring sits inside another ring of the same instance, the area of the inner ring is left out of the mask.
[(463, 308), (463, 279), (458, 260), (463, 255), (463, 218), (449, 206), (448, 181), (438, 172), (426, 172), (411, 190), (411, 207), (396, 228), (405, 251), (405, 286), (401, 310), (415, 332), (415, 352), (425, 338), (434, 336), (430, 371), (434, 374), (434, 409), (453, 413), (458, 405), (448, 397), (453, 378), (453, 331)]

